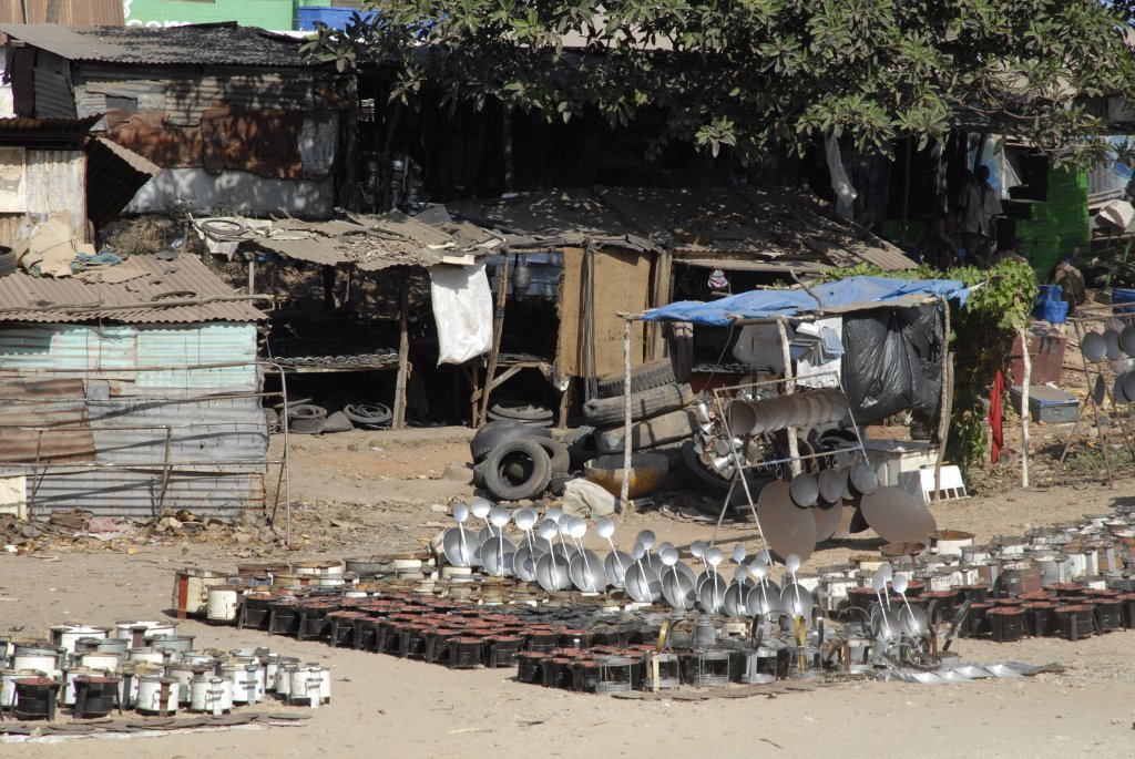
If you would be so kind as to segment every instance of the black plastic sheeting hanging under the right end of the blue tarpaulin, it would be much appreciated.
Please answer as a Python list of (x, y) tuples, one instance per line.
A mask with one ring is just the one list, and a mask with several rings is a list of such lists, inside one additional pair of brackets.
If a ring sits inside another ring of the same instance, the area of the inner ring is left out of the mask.
[(943, 323), (936, 305), (843, 318), (843, 389), (860, 424), (910, 408), (938, 413)]

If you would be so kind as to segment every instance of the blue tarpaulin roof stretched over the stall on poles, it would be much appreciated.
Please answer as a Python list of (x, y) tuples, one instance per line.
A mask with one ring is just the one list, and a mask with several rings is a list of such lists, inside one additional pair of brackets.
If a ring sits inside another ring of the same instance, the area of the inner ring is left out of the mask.
[(688, 321), (711, 327), (728, 327), (742, 319), (770, 317), (798, 317), (826, 309), (851, 305), (883, 304), (909, 295), (942, 296), (957, 300), (962, 305), (969, 290), (955, 279), (891, 279), (889, 277), (848, 277), (812, 292), (816, 301), (802, 289), (750, 290), (720, 301), (678, 301), (642, 315), (644, 321)]

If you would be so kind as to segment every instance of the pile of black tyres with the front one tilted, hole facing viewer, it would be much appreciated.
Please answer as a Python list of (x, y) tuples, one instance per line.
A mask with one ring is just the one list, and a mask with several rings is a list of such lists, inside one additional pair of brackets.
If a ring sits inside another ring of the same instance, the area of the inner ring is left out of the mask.
[(496, 500), (536, 499), (568, 474), (568, 446), (547, 427), (514, 419), (489, 422), (469, 444), (473, 455), (473, 484)]

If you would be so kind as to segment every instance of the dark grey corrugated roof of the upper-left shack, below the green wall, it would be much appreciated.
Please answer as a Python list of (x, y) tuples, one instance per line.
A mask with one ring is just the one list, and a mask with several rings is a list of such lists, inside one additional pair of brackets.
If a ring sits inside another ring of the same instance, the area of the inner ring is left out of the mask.
[(300, 54), (302, 40), (238, 26), (76, 26), (0, 24), (0, 32), (68, 60), (111, 64), (316, 66)]

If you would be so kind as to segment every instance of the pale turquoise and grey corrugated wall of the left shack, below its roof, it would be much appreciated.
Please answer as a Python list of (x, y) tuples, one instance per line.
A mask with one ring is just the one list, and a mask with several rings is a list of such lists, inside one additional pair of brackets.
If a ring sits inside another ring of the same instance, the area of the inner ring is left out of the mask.
[[(25, 438), (0, 445), (0, 473), (30, 478), (30, 505), (40, 514), (81, 507), (150, 517), (186, 508), (230, 517), (260, 505), (268, 430), (254, 361), (255, 327), (247, 323), (5, 326), (0, 373), (83, 382), (69, 385), (81, 397), (56, 394), (41, 403), (0, 394), (0, 412), (11, 406), (23, 428), (3, 433)], [(202, 364), (242, 365), (196, 368)], [(36, 406), (85, 419), (93, 456), (39, 467), (23, 455), (3, 457), (7, 448), (26, 453), (39, 435)]]

